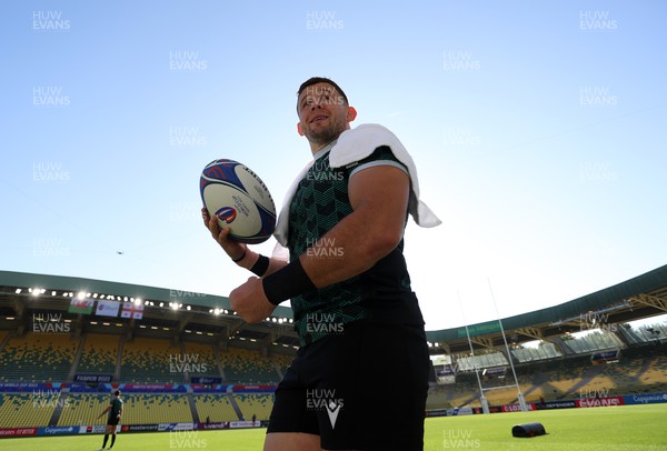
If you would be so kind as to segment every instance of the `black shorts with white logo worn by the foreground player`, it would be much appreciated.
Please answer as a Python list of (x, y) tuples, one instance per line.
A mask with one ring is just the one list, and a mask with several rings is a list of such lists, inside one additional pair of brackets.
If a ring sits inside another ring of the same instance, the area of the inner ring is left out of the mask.
[(422, 450), (429, 369), (422, 325), (345, 324), (299, 349), (267, 433), (317, 434), (327, 450)]

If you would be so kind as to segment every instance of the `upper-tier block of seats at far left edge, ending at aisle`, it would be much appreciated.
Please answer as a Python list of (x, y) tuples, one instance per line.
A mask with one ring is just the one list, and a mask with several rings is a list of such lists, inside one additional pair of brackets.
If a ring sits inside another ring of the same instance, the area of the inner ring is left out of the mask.
[(77, 348), (69, 333), (10, 337), (0, 353), (0, 381), (64, 382)]

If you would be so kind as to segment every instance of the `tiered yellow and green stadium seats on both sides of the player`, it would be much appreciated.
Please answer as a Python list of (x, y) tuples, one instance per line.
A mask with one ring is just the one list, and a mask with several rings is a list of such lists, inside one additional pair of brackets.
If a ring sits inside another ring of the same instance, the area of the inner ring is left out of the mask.
[[(229, 348), (216, 351), (215, 344), (185, 341), (171, 345), (169, 340), (120, 335), (89, 334), (71, 340), (69, 334), (29, 332), (22, 338), (0, 332), (0, 381), (67, 382), (74, 373), (117, 374), (122, 383), (162, 384), (187, 383), (192, 375), (223, 378), (223, 384), (275, 384), (291, 362), (288, 355), (262, 357), (256, 351)], [(80, 358), (77, 367), (77, 351)], [(576, 347), (576, 345), (575, 345)], [(121, 350), (121, 367), (118, 353)], [(620, 361), (593, 364), (590, 353), (559, 355), (534, 360), (535, 353), (520, 352), (522, 363), (515, 370), (521, 392), (528, 402), (639, 394), (667, 391), (667, 345), (644, 345), (623, 349)], [(172, 371), (171, 362), (198, 363), (201, 371)], [(485, 361), (502, 363), (498, 353), (484, 354)], [(222, 371), (220, 371), (222, 370)], [(490, 405), (515, 403), (517, 389), (510, 370), (502, 374), (481, 377)], [(51, 387), (51, 385), (46, 385)], [(57, 387), (57, 385), (53, 385)], [(83, 385), (82, 385), (83, 387)], [(488, 390), (489, 388), (497, 388)], [(83, 387), (86, 389), (86, 387)], [(97, 417), (109, 404), (109, 394), (92, 392), (30, 393), (12, 391), (11, 385), (0, 393), (0, 428), (103, 424)], [(108, 390), (108, 387), (103, 390)], [(185, 390), (185, 389), (183, 389)], [(193, 394), (125, 392), (123, 424), (160, 422), (211, 422), (267, 420), (273, 403), (272, 393), (219, 392)], [(192, 402), (192, 404), (190, 404)], [(456, 383), (434, 385), (427, 409), (479, 407), (479, 385), (472, 371), (459, 371)], [(59, 409), (61, 407), (61, 409)], [(193, 412), (196, 415), (193, 417)]]

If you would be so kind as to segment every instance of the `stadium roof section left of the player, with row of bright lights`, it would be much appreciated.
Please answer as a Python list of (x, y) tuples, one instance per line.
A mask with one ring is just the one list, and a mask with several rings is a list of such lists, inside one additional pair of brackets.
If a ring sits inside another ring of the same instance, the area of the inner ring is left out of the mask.
[[(69, 313), (72, 299), (115, 300), (145, 304), (141, 320)], [(229, 299), (178, 289), (103, 280), (0, 271), (0, 330), (19, 334), (31, 328), (33, 314), (61, 312), (73, 331), (125, 333), (178, 340), (217, 342), (267, 351), (291, 352), (299, 340), (292, 330), (292, 311), (278, 307), (271, 318), (248, 324), (231, 311)]]

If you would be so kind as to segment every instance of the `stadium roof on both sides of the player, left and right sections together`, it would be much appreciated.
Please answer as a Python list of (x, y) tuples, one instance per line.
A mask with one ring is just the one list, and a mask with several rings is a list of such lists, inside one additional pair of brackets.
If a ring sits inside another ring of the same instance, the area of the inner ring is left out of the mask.
[[(80, 294), (79, 294), (80, 293)], [(40, 311), (62, 311), (68, 315), (71, 300), (77, 297), (121, 302), (141, 300), (143, 318), (109, 320), (70, 314), (74, 330), (104, 331), (113, 323), (117, 333), (162, 334), (178, 339), (186, 334), (219, 342), (267, 351), (273, 344), (292, 350), (298, 339), (292, 330), (292, 311), (278, 307), (270, 319), (247, 324), (230, 309), (229, 299), (219, 295), (130, 283), (23, 272), (0, 271), (0, 330), (30, 328), (30, 317)], [(536, 310), (499, 321), (487, 321), (458, 328), (428, 331), (429, 342), (445, 352), (469, 350), (468, 335), (475, 347), (495, 348), (504, 344), (501, 327), (515, 342), (548, 339), (583, 330), (591, 318), (606, 323), (620, 323), (667, 312), (667, 265), (559, 305)], [(96, 321), (100, 320), (100, 321)], [(243, 342), (243, 343), (241, 343)], [(285, 350), (281, 350), (285, 351)]]

